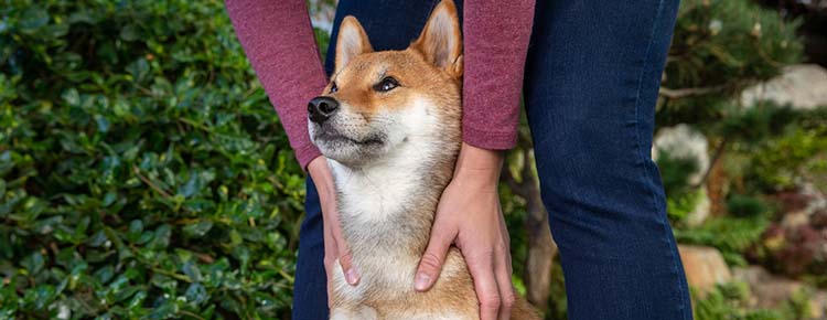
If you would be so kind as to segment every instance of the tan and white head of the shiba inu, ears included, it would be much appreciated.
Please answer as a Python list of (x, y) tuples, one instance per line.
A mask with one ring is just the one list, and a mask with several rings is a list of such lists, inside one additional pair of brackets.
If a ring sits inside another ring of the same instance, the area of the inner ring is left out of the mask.
[(404, 51), (374, 52), (359, 22), (346, 17), (335, 73), (308, 105), (311, 141), (329, 159), (354, 168), (454, 150), (461, 79), (462, 35), (452, 1), (437, 6)]

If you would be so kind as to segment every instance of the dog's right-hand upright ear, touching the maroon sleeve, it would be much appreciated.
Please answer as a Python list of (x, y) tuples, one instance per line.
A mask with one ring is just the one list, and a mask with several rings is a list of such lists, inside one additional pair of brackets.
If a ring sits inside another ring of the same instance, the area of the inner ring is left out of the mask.
[(462, 76), (462, 33), (457, 6), (442, 0), (431, 12), (422, 34), (410, 45), (437, 67), (455, 77)]

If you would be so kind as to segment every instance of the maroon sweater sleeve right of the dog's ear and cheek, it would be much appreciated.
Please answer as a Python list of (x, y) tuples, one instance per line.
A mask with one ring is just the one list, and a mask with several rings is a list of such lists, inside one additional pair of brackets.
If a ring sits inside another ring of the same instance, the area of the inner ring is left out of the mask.
[(464, 1), (462, 139), (483, 149), (517, 142), (519, 96), (534, 0)]

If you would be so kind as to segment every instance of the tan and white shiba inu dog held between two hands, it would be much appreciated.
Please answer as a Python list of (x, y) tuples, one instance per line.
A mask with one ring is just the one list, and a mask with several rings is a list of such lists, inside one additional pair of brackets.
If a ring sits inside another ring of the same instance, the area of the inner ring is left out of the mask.
[[(334, 264), (331, 319), (479, 319), (457, 248), (429, 291), (414, 289), (462, 142), (457, 8), (439, 3), (404, 51), (374, 52), (353, 17), (342, 21), (337, 41), (335, 73), (308, 106), (309, 132), (333, 172), (343, 235), (362, 279), (347, 285)], [(512, 319), (539, 317), (518, 298)]]

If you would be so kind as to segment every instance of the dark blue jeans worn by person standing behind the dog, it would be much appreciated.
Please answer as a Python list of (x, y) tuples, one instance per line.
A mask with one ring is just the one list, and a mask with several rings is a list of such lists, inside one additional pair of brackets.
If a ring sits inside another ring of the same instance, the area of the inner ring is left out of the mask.
[[(334, 25), (353, 14), (376, 50), (400, 50), (436, 2), (342, 0)], [(524, 100), (569, 319), (692, 318), (649, 152), (677, 8), (678, 0), (537, 1)], [(329, 73), (335, 42), (330, 47)], [(323, 255), (319, 199), (308, 180), (293, 319), (327, 317)]]

